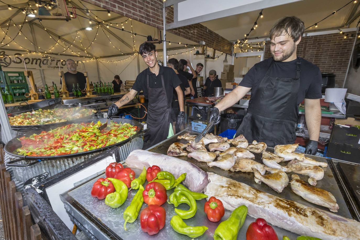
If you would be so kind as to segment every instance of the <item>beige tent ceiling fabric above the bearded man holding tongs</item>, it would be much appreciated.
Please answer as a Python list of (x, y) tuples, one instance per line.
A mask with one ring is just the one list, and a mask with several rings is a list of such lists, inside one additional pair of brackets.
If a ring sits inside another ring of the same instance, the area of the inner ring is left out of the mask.
[[(262, 11), (264, 18), (257, 22), (258, 27), (252, 31), (248, 38), (264, 37), (269, 35), (269, 31), (273, 24), (285, 16), (297, 16), (305, 22), (305, 28), (315, 24), (327, 15), (331, 14), (348, 3), (349, 0), (303, 0), (295, 3), (266, 8)], [(325, 19), (318, 24), (318, 27), (309, 28), (307, 31), (318, 31), (321, 29), (335, 28), (342, 26), (346, 17), (354, 6), (358, 4), (349, 4), (341, 9), (338, 13)], [(248, 33), (252, 28), (260, 10), (234, 15), (230, 17), (215, 19), (202, 22), (204, 26), (225, 37), (229, 41), (243, 39), (244, 34)], [(357, 21), (354, 21), (357, 23)], [(355, 23), (355, 26), (356, 26)], [(354, 25), (354, 23), (352, 23)], [(351, 26), (352, 26), (351, 25)]]

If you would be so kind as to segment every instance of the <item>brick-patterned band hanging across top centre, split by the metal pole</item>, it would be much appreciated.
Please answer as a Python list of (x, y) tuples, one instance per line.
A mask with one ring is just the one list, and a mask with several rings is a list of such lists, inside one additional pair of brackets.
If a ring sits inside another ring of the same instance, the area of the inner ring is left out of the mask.
[[(163, 29), (162, 0), (84, 0), (87, 3), (121, 14), (125, 17)], [(166, 21), (172, 22), (173, 8), (166, 9)], [(184, 37), (199, 44), (205, 41), (205, 45), (218, 51), (231, 54), (231, 42), (217, 33), (209, 30), (202, 24), (193, 24), (181, 28), (169, 30), (177, 36)]]

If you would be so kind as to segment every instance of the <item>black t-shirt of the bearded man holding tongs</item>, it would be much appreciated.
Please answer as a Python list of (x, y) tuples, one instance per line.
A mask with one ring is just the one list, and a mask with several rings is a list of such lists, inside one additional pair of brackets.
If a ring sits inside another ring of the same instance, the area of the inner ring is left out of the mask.
[[(300, 58), (300, 87), (297, 96), (297, 104), (300, 104), (304, 98), (319, 99), (321, 94), (321, 72), (318, 66), (309, 61)], [(295, 78), (296, 77), (296, 59), (290, 62), (275, 62), (273, 58), (268, 58), (255, 64), (244, 76), (239, 86), (251, 87), (251, 92), (256, 94), (258, 83), (264, 78), (271, 62), (273, 67), (269, 72), (270, 77)]]

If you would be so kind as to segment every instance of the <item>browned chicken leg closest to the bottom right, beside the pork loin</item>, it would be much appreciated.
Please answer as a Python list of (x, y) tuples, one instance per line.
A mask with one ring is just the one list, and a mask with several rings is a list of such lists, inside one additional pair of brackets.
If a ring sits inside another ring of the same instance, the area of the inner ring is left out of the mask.
[(295, 194), (301, 196), (310, 203), (315, 203), (324, 206), (325, 208), (329, 208), (332, 212), (337, 212), (339, 205), (336, 203), (334, 195), (324, 189), (308, 185), (296, 174), (291, 175), (291, 177), (291, 190), (293, 190)]

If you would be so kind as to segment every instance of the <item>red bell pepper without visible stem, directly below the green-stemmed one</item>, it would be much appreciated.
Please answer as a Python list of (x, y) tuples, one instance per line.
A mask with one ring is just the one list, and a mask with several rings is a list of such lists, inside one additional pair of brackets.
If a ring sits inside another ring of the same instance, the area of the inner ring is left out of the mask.
[(166, 212), (163, 207), (149, 205), (140, 214), (140, 226), (149, 235), (157, 234), (165, 226)]

